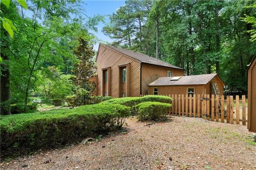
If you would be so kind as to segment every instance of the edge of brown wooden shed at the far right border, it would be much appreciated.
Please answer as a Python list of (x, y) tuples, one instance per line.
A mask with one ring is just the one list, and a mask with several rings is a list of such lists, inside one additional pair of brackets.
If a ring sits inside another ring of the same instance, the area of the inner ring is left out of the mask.
[(256, 133), (256, 57), (248, 69), (248, 123), (247, 128)]

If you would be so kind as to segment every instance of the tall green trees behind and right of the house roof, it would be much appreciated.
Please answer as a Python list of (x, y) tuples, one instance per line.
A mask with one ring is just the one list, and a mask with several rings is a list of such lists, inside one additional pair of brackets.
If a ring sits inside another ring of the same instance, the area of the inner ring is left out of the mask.
[(255, 1), (126, 1), (103, 31), (113, 45), (158, 56), (187, 75), (218, 73), (246, 94), (255, 17)]

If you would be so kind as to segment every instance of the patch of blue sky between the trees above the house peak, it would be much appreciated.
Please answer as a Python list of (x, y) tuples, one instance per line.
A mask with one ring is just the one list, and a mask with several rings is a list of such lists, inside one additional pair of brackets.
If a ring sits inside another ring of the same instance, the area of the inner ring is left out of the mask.
[[(83, 1), (82, 8), (85, 10), (86, 15), (94, 16), (97, 14), (106, 15), (106, 21), (108, 20), (109, 14), (115, 12), (120, 6), (125, 4), (124, 1)], [(97, 25), (98, 32), (90, 31), (95, 36), (97, 36), (102, 43), (104, 42), (112, 42), (108, 36), (105, 36), (102, 33), (102, 28), (104, 27), (104, 23), (99, 23)], [(94, 45), (94, 49), (98, 50), (99, 43)]]

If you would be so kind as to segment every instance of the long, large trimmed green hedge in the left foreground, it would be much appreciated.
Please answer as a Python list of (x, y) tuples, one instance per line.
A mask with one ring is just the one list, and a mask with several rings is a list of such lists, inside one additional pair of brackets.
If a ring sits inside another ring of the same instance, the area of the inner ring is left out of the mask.
[(1, 116), (1, 155), (65, 145), (109, 126), (121, 127), (128, 116), (130, 107), (118, 104)]

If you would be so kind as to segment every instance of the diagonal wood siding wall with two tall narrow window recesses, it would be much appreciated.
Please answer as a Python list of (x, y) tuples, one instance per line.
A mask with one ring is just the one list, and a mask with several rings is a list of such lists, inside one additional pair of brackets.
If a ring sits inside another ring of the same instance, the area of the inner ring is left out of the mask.
[(127, 89), (126, 95), (140, 96), (140, 62), (116, 52), (113, 49), (100, 45), (97, 58), (98, 95), (102, 94), (102, 69), (110, 67), (111, 73), (109, 76), (111, 77), (111, 80), (109, 79), (109, 92), (112, 97), (119, 97), (119, 66), (127, 64), (129, 64), (130, 71), (127, 71), (127, 78), (129, 81), (126, 84), (130, 88)]

